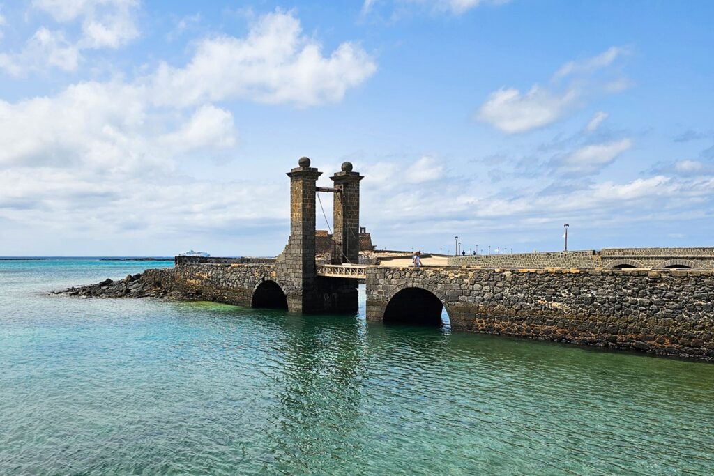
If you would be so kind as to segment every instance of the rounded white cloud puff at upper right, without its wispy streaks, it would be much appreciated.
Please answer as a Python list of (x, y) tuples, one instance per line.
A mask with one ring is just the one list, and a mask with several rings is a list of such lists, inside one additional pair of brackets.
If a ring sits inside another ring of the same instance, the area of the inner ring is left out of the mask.
[(557, 121), (575, 106), (578, 97), (574, 88), (560, 95), (538, 86), (525, 94), (515, 88), (501, 88), (488, 96), (478, 119), (506, 133), (531, 131)]

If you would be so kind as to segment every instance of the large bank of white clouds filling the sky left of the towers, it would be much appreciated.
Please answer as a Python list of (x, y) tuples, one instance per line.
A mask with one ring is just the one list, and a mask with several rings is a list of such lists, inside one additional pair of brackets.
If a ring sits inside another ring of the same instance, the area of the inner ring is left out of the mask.
[[(59, 18), (71, 18), (72, 11), (57, 8)], [(155, 243), (164, 243), (156, 238), (161, 233), (173, 239), (225, 233), (234, 243), (236, 233), (250, 223), (284, 224), (288, 208), (266, 200), (283, 193), (276, 178), (268, 178), (266, 185), (182, 175), (201, 168), (201, 161), (234, 155), (233, 115), (211, 101), (241, 98), (301, 106), (338, 101), (358, 82), (353, 71), (346, 71), (359, 61), (356, 52), (366, 58), (351, 44), (322, 56), (316, 41), (300, 33), (293, 15), (278, 12), (258, 20), (246, 38), (203, 41), (183, 69), (164, 65), (134, 81), (83, 81), (54, 96), (0, 100), (0, 143), (5, 144), (0, 148), (0, 228), (31, 236), (76, 236), (83, 242), (114, 239), (107, 238), (114, 233), (126, 240), (137, 230), (142, 239), (154, 236)], [(217, 59), (241, 64), (210, 64)], [(371, 60), (356, 66), (362, 73), (376, 67)], [(162, 71), (172, 75), (162, 76)], [(201, 71), (210, 73), (205, 85)], [(176, 101), (168, 95), (157, 98), (169, 86), (164, 80), (171, 83)], [(210, 91), (222, 86), (219, 80), (239, 86)], [(413, 179), (419, 180), (417, 171)], [(42, 233), (33, 231), (31, 223), (41, 223)]]

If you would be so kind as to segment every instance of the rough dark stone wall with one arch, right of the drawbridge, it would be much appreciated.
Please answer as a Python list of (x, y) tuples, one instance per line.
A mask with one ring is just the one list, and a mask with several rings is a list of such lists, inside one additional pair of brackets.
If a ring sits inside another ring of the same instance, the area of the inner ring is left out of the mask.
[(369, 268), (367, 318), (428, 290), (451, 327), (714, 360), (714, 270)]

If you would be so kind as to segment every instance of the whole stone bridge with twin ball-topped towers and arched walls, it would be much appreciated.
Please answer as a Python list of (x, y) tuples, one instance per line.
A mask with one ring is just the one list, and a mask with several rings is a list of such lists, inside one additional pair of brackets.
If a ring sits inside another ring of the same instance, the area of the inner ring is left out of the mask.
[[(535, 253), (533, 266), (514, 255), (420, 269), (358, 265), (363, 177), (350, 163), (332, 188), (316, 186), (320, 175), (308, 158), (288, 173), (291, 233), (277, 258), (176, 257), (173, 269), (144, 279), (186, 299), (301, 313), (356, 313), (363, 282), (372, 323), (441, 326), (446, 314), (453, 330), (714, 360), (712, 248), (690, 248), (688, 258), (658, 248)], [(334, 196), (331, 263), (315, 258), (318, 191)], [(640, 269), (650, 259), (670, 269)]]

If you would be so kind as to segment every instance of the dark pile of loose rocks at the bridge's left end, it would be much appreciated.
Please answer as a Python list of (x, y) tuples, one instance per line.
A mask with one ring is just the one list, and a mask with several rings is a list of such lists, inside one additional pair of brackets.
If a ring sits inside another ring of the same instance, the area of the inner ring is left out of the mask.
[(120, 280), (106, 279), (101, 283), (71, 287), (53, 294), (71, 295), (81, 298), (158, 298), (158, 299), (198, 299), (191, 291), (179, 290), (175, 284), (175, 273), (171, 268), (151, 269), (144, 273), (126, 275)]

